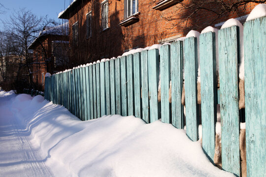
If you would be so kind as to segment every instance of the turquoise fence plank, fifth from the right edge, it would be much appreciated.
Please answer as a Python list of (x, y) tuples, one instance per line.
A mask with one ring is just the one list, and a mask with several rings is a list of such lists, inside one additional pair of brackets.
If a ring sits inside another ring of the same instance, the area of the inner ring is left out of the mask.
[(183, 105), (182, 85), (183, 85), (183, 42), (176, 41), (171, 44), (171, 111), (172, 125), (176, 128), (183, 128)]

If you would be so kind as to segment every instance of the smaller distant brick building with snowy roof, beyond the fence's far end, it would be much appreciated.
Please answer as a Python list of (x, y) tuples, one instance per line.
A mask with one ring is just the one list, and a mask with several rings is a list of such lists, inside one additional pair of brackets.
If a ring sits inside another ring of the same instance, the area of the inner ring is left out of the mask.
[(68, 23), (43, 29), (29, 46), (33, 50), (33, 83), (44, 89), (45, 74), (68, 68)]

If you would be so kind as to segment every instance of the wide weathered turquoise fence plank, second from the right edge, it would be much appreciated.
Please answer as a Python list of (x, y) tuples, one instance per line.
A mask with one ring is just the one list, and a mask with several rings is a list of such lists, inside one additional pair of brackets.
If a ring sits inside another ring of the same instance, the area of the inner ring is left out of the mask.
[[(236, 26), (220, 29), (219, 70), (222, 131), (222, 168), (240, 176), (238, 113), (238, 34)], [(231, 140), (231, 141), (230, 141)]]

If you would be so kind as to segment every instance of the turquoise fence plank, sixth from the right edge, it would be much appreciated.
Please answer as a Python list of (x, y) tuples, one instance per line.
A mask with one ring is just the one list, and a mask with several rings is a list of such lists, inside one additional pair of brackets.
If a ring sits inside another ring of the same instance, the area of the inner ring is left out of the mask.
[(161, 46), (160, 71), (161, 71), (161, 108), (162, 122), (171, 123), (169, 84), (170, 84), (170, 45)]

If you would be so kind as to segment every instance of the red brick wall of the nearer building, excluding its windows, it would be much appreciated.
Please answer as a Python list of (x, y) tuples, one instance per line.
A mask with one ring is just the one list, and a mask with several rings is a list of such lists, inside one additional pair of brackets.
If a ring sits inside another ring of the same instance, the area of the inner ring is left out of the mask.
[[(173, 27), (175, 21), (166, 21), (163, 17), (182, 17), (185, 11), (177, 10), (180, 5), (171, 6), (163, 11), (154, 10), (155, 5), (150, 4), (150, 0), (139, 0), (138, 15), (139, 22), (129, 27), (120, 27), (118, 24), (124, 19), (124, 0), (108, 0), (109, 29), (100, 29), (100, 2), (103, 0), (83, 0), (82, 4), (76, 8), (76, 12), (69, 19), (70, 44), (72, 37), (71, 26), (79, 21), (79, 41), (71, 46), (72, 65), (84, 64), (101, 58), (111, 58), (122, 55), (125, 51), (133, 48), (144, 48), (159, 43), (162, 39), (173, 36), (185, 36), (189, 30), (194, 29), (199, 32), (213, 21), (214, 15), (202, 12), (191, 18), (188, 23)], [(185, 0), (183, 2), (186, 2)], [(188, 1), (189, 2), (189, 1)], [(224, 22), (230, 18), (237, 18), (249, 14), (256, 4), (249, 4), (245, 11), (239, 9), (237, 13), (223, 16), (212, 23)], [(219, 7), (218, 7), (219, 8)], [(86, 13), (92, 10), (93, 13), (93, 36), (86, 38)], [(196, 25), (195, 25), (196, 24)], [(198, 27), (198, 26), (200, 27)]]

